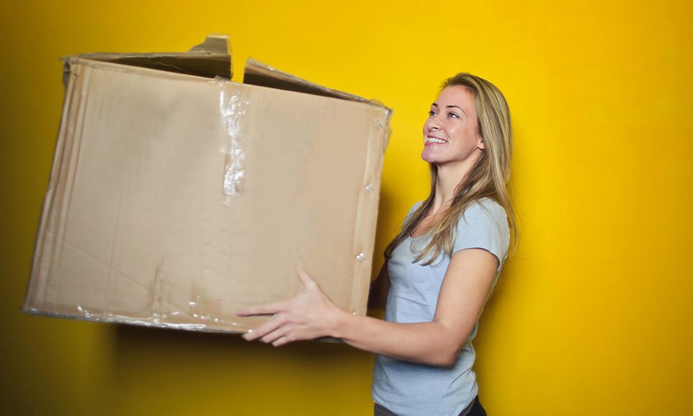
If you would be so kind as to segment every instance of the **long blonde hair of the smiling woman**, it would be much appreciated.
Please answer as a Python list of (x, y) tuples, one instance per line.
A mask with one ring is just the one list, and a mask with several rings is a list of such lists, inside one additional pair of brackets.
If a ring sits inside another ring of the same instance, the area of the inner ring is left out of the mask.
[[(446, 87), (459, 85), (474, 97), (477, 112), (479, 136), (484, 140), (485, 148), (476, 164), (466, 175), (466, 179), (455, 189), (455, 196), (443, 218), (428, 231), (431, 239), (419, 252), (414, 262), (423, 261), (428, 266), (439, 257), (441, 252), (448, 256), (453, 252), (453, 233), (457, 221), (473, 202), (482, 198), (491, 198), (505, 209), (510, 229), (510, 249), (514, 252), (517, 240), (515, 211), (508, 190), (510, 180), (510, 160), (513, 148), (513, 132), (510, 109), (505, 96), (498, 87), (471, 73), (458, 73), (445, 80), (441, 91)], [(431, 190), (428, 198), (416, 209), (405, 223), (402, 231), (385, 248), (385, 258), (392, 257), (392, 252), (402, 241), (405, 241), (426, 218), (433, 206), (435, 187), (438, 180), (438, 168), (430, 165)]]

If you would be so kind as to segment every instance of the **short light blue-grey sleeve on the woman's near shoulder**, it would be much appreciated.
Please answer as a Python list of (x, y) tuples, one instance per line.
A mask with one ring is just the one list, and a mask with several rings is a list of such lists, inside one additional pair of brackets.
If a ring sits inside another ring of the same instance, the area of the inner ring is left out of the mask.
[(510, 229), (505, 209), (489, 198), (473, 202), (457, 221), (453, 253), (482, 248), (498, 258), (498, 270), (507, 257)]

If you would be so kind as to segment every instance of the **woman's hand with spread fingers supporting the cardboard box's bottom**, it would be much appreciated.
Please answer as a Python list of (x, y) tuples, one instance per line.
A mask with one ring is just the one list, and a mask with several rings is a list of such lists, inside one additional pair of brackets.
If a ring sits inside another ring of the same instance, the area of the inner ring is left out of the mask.
[(239, 316), (272, 315), (260, 327), (243, 334), (245, 340), (259, 339), (279, 347), (292, 341), (333, 335), (340, 317), (347, 312), (335, 306), (301, 266), (296, 273), (303, 288), (292, 299), (248, 306), (236, 312)]

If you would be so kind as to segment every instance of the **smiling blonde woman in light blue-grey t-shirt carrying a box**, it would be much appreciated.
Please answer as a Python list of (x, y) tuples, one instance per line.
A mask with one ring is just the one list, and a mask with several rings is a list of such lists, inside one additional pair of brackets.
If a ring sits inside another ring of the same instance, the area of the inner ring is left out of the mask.
[(238, 311), (274, 314), (243, 337), (278, 346), (332, 336), (378, 354), (376, 416), (485, 415), (471, 340), (516, 234), (507, 102), (488, 81), (459, 73), (431, 105), (423, 137), (430, 195), (387, 246), (371, 291), (371, 306), (387, 295), (385, 320), (337, 308), (299, 270), (304, 289), (292, 300)]

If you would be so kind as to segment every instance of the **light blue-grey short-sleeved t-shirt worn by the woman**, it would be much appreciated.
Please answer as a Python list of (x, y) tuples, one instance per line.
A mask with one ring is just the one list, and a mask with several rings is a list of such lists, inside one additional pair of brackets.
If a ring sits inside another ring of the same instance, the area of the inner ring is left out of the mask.
[[(407, 220), (419, 205), (421, 202), (410, 209)], [(416, 248), (419, 244), (423, 248), (429, 238), (428, 234), (416, 239), (410, 237), (395, 248), (387, 261), (391, 286), (387, 295), (385, 320), (402, 323), (433, 320), (450, 257), (440, 254), (429, 266), (413, 263)], [(498, 258), (498, 270), (491, 286), (493, 289), (509, 245), (505, 210), (490, 198), (473, 202), (459, 218), (453, 238), (453, 253), (466, 248), (482, 248)], [(477, 395), (478, 386), (472, 370), (475, 353), (471, 344), (477, 324), (452, 367), (435, 367), (376, 356), (373, 400), (399, 416), (456, 416)]]

